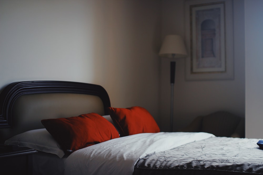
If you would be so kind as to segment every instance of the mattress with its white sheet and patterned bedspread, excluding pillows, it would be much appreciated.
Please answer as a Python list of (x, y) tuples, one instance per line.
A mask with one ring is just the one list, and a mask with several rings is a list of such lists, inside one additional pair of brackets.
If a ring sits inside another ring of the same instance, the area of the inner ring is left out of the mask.
[(33, 174), (263, 174), (258, 139), (197, 132), (141, 133), (59, 157), (33, 154)]

